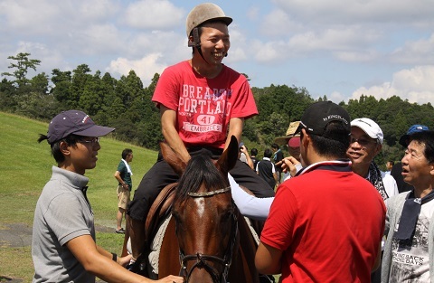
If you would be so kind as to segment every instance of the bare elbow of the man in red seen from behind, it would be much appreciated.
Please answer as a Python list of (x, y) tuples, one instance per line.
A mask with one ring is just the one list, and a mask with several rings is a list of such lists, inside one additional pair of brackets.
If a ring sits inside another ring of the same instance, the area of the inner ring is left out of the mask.
[(282, 251), (259, 242), (256, 250), (255, 265), (259, 273), (278, 274), (281, 272)]

